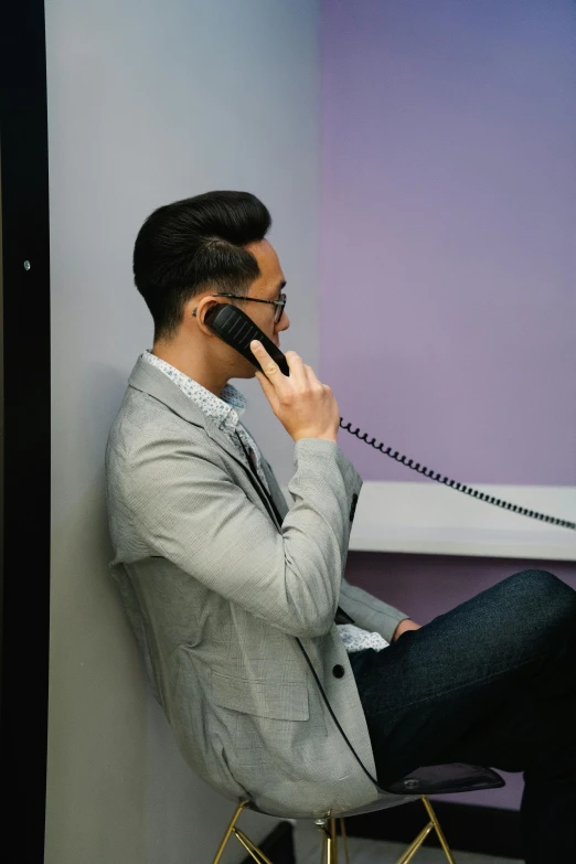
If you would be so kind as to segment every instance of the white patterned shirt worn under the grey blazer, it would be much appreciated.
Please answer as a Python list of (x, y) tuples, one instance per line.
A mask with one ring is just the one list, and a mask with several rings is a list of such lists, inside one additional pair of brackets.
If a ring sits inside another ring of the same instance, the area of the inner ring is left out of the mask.
[[(207, 417), (217, 420), (218, 428), (228, 436), (231, 441), (234, 441), (238, 456), (242, 457), (243, 461), (247, 463), (249, 468), (250, 466), (246, 459), (246, 454), (238, 441), (236, 433), (239, 435), (246, 449), (253, 451), (258, 477), (268, 494), (270, 494), (266, 474), (262, 469), (262, 458), (258, 445), (239, 422), (239, 418), (248, 404), (244, 394), (241, 393), (239, 390), (236, 390), (233, 384), (228, 383), (223, 387), (220, 396), (216, 396), (210, 390), (202, 386), (202, 384), (199, 384), (193, 378), (184, 375), (179, 369), (167, 363), (166, 360), (157, 358), (150, 350), (140, 354), (139, 359), (145, 360), (147, 363), (150, 363), (152, 366), (156, 366), (163, 372), (164, 375), (168, 375), (168, 377), (171, 378)], [(388, 646), (388, 642), (386, 642), (380, 633), (371, 633), (355, 625), (337, 625), (337, 627), (344, 643), (344, 648), (349, 653), (352, 651), (361, 651), (363, 648), (373, 648), (375, 651), (380, 651), (382, 648)]]

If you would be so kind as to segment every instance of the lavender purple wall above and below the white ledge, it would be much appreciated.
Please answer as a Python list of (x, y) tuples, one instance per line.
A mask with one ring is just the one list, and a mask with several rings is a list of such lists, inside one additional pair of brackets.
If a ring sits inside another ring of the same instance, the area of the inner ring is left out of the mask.
[[(465, 482), (576, 483), (576, 6), (326, 0), (320, 377)], [(423, 481), (341, 433), (365, 480)], [(423, 481), (427, 482), (427, 481)], [(351, 553), (420, 623), (543, 561)], [(459, 801), (515, 808), (522, 781)], [(448, 797), (447, 800), (455, 800)]]

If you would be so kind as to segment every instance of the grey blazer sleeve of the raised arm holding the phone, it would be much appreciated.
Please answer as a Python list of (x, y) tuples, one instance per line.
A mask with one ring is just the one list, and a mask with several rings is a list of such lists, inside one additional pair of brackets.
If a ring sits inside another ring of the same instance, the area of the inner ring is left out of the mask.
[(337, 444), (296, 442), (281, 533), (189, 439), (148, 439), (125, 459), (120, 494), (151, 554), (286, 633), (329, 632), (362, 487)]

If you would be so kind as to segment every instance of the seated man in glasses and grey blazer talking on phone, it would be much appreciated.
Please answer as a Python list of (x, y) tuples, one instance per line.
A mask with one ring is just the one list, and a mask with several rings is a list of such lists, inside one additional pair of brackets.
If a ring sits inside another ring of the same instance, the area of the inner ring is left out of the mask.
[[(154, 211), (135, 245), (154, 338), (108, 441), (111, 568), (181, 751), (280, 815), (359, 807), (371, 777), (425, 765), (525, 770), (526, 861), (576, 860), (576, 593), (525, 570), (420, 628), (345, 582), (362, 480), (330, 387), (259, 343), (256, 371), (205, 322), (233, 302), (279, 344), (269, 226), (253, 195), (213, 192)], [(228, 383), (254, 376), (295, 440), (291, 508)]]

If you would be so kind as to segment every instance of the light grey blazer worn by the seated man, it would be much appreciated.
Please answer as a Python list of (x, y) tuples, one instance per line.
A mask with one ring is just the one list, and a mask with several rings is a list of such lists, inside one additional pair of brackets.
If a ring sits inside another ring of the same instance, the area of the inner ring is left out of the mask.
[[(217, 424), (138, 360), (106, 449), (110, 568), (150, 685), (193, 769), (279, 817), (345, 812), (378, 793), (334, 615), (387, 639), (407, 616), (343, 578), (362, 479), (332, 441), (295, 446), (288, 508)], [(258, 489), (258, 487), (260, 487)], [(383, 683), (385, 686), (385, 683)]]

